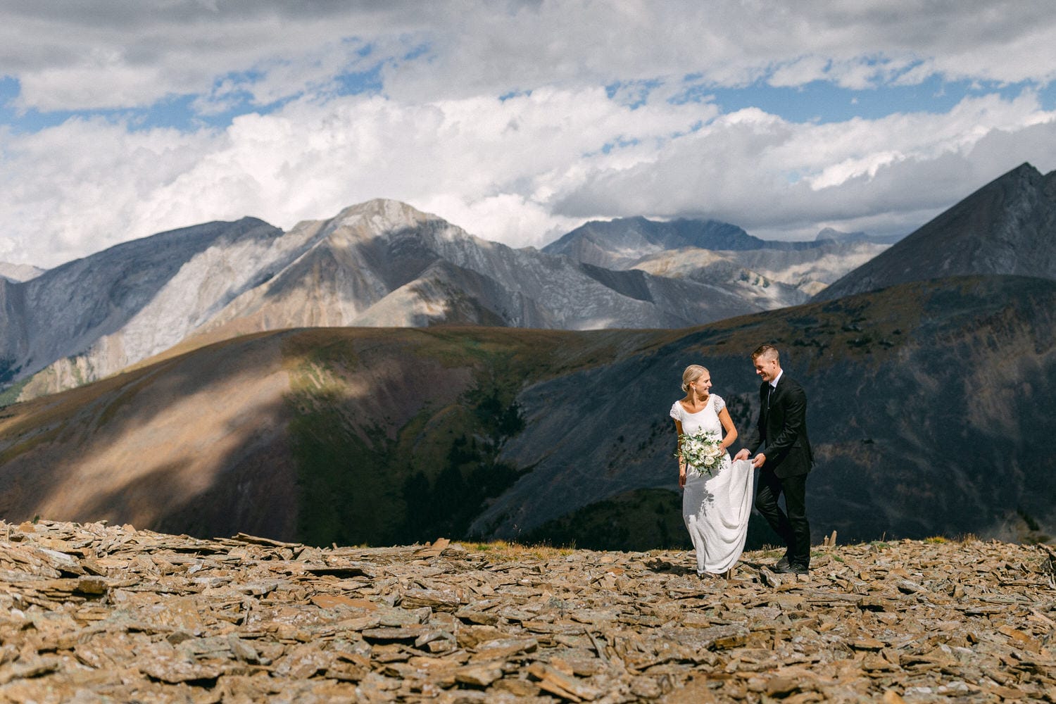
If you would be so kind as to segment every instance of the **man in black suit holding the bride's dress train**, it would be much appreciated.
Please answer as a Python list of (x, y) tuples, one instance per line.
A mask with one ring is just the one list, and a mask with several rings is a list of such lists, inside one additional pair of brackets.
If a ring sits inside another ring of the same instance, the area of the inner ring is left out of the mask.
[[(759, 386), (759, 420), (734, 459), (752, 458), (760, 469), (755, 508), (785, 541), (775, 572), (807, 574), (810, 569), (810, 524), (807, 522), (807, 474), (814, 453), (807, 437), (807, 395), (781, 370), (777, 348), (760, 345), (752, 353)], [(759, 448), (762, 452), (756, 452)], [(777, 498), (785, 494), (785, 511)]]

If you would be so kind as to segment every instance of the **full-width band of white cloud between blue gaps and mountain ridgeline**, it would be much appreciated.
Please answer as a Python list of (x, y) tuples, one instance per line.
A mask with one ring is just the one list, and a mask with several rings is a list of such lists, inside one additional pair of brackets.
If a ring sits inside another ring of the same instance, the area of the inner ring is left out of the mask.
[(966, 99), (946, 115), (796, 125), (757, 109), (633, 110), (595, 89), (301, 100), (194, 134), (70, 120), (2, 137), (0, 259), (55, 265), (247, 214), (288, 228), (378, 196), (514, 246), (636, 214), (719, 217), (760, 236), (870, 217), (874, 231), (898, 231), (905, 213), (934, 213), (1023, 160), (1056, 166), (1054, 119), (1031, 93)]

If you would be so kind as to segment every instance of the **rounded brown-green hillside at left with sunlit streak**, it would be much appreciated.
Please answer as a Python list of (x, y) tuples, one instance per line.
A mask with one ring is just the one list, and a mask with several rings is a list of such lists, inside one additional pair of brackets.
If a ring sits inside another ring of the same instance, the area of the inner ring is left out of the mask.
[(465, 535), (524, 470), (525, 384), (664, 332), (321, 328), (215, 343), (0, 414), (0, 514), (313, 545)]

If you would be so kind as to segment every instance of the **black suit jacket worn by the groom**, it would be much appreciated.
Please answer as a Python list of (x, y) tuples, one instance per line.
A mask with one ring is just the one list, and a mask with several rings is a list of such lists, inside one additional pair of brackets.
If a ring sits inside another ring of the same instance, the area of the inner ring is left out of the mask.
[(810, 472), (814, 451), (807, 437), (807, 394), (803, 386), (782, 374), (773, 392), (770, 382), (762, 382), (759, 403), (759, 420), (744, 446), (755, 454), (761, 445), (767, 457), (762, 471), (773, 472), (779, 479)]

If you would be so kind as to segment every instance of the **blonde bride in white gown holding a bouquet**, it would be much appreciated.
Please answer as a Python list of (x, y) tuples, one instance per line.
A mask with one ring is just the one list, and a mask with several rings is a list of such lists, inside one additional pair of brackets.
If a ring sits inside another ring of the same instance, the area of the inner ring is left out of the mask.
[(712, 377), (699, 364), (682, 373), (685, 398), (671, 417), (678, 432), (678, 486), (682, 518), (697, 550), (697, 575), (729, 575), (744, 550), (752, 510), (752, 463), (730, 461), (737, 439), (725, 402), (711, 393)]

